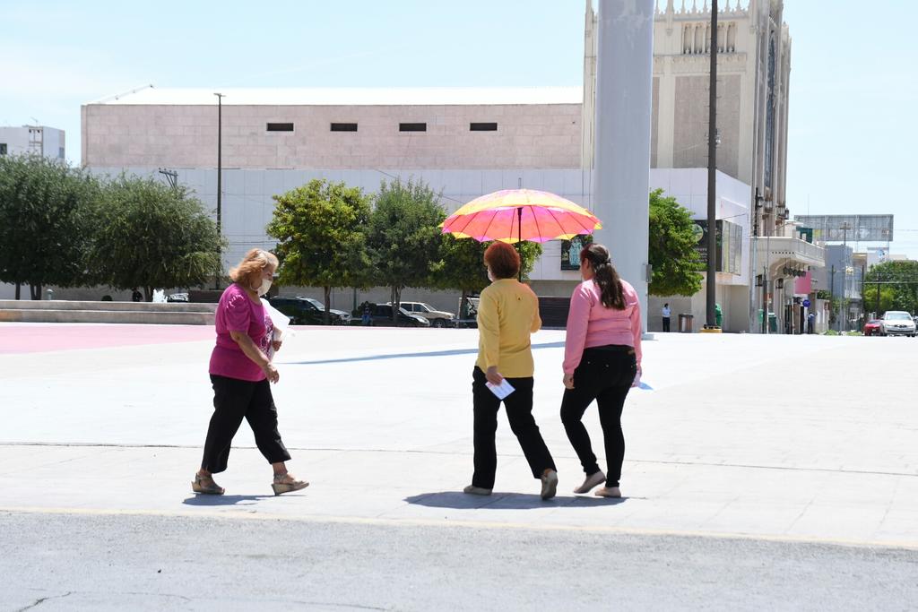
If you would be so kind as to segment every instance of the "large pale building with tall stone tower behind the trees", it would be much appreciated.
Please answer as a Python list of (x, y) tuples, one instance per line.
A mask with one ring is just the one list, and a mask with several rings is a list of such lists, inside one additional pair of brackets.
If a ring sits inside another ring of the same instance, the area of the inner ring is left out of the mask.
[[(789, 36), (781, 10), (778, 0), (750, 0), (743, 8), (726, 3), (721, 14), (718, 218), (738, 223), (747, 241), (743, 272), (718, 274), (728, 330), (750, 328), (761, 307), (751, 283), (761, 267), (756, 257), (767, 261), (769, 284), (788, 261), (820, 263), (812, 253), (800, 257), (796, 244), (772, 253), (748, 243), (787, 217)], [(517, 187), (595, 209), (595, 18), (588, 2), (583, 88), (239, 89), (220, 92), (218, 108), (211, 90), (148, 87), (83, 106), (83, 163), (112, 174), (173, 169), (214, 206), (219, 131), (228, 264), (247, 248), (271, 246), (263, 232), (271, 196), (309, 178), (373, 192), (383, 179), (415, 176), (442, 190), (448, 211)], [(708, 19), (706, 4), (677, 10), (673, 2), (654, 17), (650, 184), (698, 218), (707, 199)], [(541, 295), (569, 295), (577, 272), (561, 270), (559, 243), (543, 246), (533, 286)], [(701, 302), (703, 292), (679, 308), (700, 315)]]

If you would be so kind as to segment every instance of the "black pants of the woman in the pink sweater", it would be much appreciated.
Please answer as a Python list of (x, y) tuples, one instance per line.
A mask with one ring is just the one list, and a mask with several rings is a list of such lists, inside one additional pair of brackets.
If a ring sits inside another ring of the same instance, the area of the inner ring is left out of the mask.
[[(664, 319), (665, 320), (665, 319)], [(565, 389), (561, 401), (561, 422), (571, 441), (583, 471), (599, 472), (596, 455), (584, 427), (583, 413), (595, 399), (599, 406), (599, 424), (606, 442), (606, 486), (618, 486), (621, 462), (625, 456), (625, 438), (621, 432), (621, 409), (637, 373), (632, 347), (609, 345), (583, 351), (580, 365), (574, 371), (574, 388)]]

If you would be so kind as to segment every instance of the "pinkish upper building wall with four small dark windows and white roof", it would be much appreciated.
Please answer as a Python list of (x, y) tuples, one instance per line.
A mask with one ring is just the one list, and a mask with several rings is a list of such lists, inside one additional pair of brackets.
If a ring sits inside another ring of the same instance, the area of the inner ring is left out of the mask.
[[(580, 88), (230, 89), (224, 168), (579, 169)], [(84, 105), (85, 166), (217, 166), (217, 97), (144, 88)]]

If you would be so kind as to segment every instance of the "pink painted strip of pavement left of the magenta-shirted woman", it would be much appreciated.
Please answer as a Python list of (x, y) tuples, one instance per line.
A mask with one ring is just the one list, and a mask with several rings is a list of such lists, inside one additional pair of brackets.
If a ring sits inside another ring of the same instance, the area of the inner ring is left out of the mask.
[(213, 340), (209, 325), (94, 325), (0, 323), (0, 353), (107, 349)]

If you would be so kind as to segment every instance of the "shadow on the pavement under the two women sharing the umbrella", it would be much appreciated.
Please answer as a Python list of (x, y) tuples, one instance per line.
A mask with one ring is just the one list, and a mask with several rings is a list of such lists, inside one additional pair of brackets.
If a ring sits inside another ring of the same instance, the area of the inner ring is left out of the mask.
[(499, 493), (491, 495), (466, 495), (461, 491), (440, 491), (438, 493), (422, 493), (405, 498), (409, 504), (435, 508), (454, 508), (458, 510), (474, 510), (487, 508), (494, 510), (533, 510), (550, 507), (596, 507), (618, 506), (628, 498), (618, 499), (608, 497), (587, 497), (580, 495), (557, 496), (553, 499), (543, 500), (539, 495), (522, 493)]

